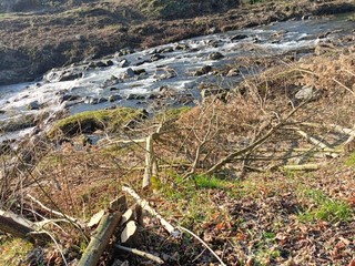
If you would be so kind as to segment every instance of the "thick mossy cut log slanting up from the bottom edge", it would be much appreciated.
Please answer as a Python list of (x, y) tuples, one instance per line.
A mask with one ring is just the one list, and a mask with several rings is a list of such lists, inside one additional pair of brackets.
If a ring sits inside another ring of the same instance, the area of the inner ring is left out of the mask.
[(101, 254), (105, 249), (106, 245), (110, 242), (112, 234), (120, 224), (121, 213), (108, 213), (105, 214), (98, 228), (97, 234), (91, 237), (89, 246), (85, 252), (82, 254), (78, 266), (97, 266), (100, 259)]

